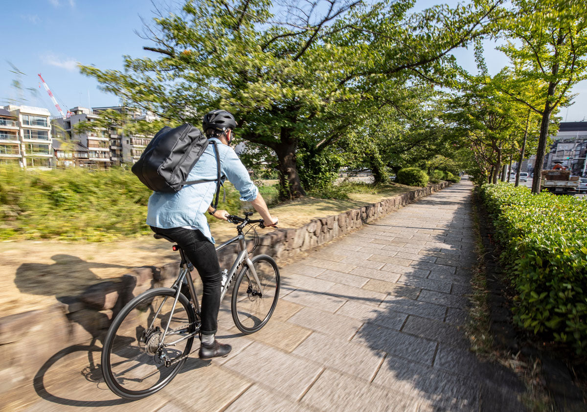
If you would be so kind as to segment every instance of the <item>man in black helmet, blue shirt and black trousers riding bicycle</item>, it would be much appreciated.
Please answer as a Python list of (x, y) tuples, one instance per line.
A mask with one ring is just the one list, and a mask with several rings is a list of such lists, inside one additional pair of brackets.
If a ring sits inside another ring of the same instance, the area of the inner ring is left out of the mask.
[[(202, 128), (211, 141), (216, 141), (220, 157), (221, 180), (228, 178), (241, 195), (249, 201), (264, 219), (265, 226), (274, 227), (278, 219), (269, 213), (265, 200), (252, 183), (247, 168), (230, 147), (237, 123), (231, 113), (212, 110), (204, 116)], [(230, 345), (214, 339), (220, 309), (221, 271), (214, 248), (214, 238), (205, 212), (217, 219), (227, 220), (228, 212), (215, 210), (210, 204), (216, 189), (217, 163), (214, 145), (208, 144), (194, 165), (188, 181), (208, 180), (205, 183), (185, 185), (177, 193), (154, 192), (149, 198), (147, 224), (154, 232), (173, 239), (195, 266), (203, 283), (200, 359), (226, 356)], [(182, 292), (189, 298), (187, 288)]]

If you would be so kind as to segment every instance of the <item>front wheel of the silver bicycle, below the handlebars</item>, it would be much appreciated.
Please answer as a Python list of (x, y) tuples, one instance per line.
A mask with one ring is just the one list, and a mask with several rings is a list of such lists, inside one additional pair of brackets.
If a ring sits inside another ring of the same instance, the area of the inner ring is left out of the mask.
[(262, 296), (254, 295), (257, 285), (252, 276), (249, 279), (249, 268), (245, 265), (234, 282), (231, 299), (232, 320), (238, 330), (247, 335), (257, 332), (269, 321), (277, 305), (281, 287), (279, 268), (271, 256), (257, 255), (251, 261), (262, 284)]

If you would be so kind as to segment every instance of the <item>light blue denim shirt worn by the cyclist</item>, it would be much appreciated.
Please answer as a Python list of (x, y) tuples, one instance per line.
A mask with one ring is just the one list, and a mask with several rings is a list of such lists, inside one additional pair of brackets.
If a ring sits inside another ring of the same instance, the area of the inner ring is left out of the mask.
[[(228, 178), (241, 194), (242, 201), (255, 200), (259, 190), (252, 183), (247, 168), (237, 154), (220, 140), (211, 140), (217, 142), (222, 181)], [(216, 179), (216, 175), (216, 155), (214, 145), (210, 143), (190, 171), (187, 180)], [(214, 243), (205, 213), (212, 202), (215, 189), (216, 182), (210, 181), (185, 185), (177, 193), (153, 192), (147, 208), (147, 225), (162, 229), (191, 226), (199, 229)]]

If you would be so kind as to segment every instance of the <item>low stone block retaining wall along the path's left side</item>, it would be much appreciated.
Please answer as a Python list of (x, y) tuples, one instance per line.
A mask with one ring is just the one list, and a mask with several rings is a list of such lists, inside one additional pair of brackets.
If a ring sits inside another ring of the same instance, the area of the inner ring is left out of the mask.
[[(292, 258), (448, 185), (444, 182), (417, 188), (338, 215), (312, 219), (301, 228), (276, 229), (259, 237), (254, 254), (273, 256), (278, 261)], [(222, 268), (230, 268), (237, 247), (230, 245), (222, 249), (219, 256)], [(178, 268), (179, 262), (136, 268), (119, 279), (89, 286), (82, 295), (60, 297), (49, 308), (0, 318), (0, 394), (30, 382), (59, 351), (102, 339), (114, 316), (127, 302), (148, 289), (171, 286)]]

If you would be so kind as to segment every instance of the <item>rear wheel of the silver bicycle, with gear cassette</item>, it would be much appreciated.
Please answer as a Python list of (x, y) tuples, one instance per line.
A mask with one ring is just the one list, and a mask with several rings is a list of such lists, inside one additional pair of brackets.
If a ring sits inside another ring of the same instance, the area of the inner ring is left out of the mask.
[[(124, 306), (110, 326), (102, 349), (102, 373), (118, 396), (149, 396), (170, 383), (183, 366), (194, 336), (175, 346), (160, 345), (175, 294), (168, 288), (147, 291)], [(194, 330), (195, 321), (193, 308), (180, 295), (164, 343), (187, 336)]]

